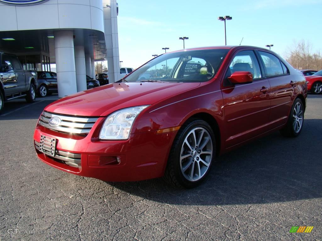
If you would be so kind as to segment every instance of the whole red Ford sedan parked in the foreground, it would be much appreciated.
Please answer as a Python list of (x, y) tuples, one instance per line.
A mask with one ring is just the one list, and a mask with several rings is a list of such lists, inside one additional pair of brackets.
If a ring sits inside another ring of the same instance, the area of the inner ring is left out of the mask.
[(48, 105), (34, 144), (43, 162), (68, 173), (104, 181), (165, 176), (194, 187), (218, 154), (276, 130), (298, 136), (306, 97), (304, 76), (270, 50), (185, 49)]

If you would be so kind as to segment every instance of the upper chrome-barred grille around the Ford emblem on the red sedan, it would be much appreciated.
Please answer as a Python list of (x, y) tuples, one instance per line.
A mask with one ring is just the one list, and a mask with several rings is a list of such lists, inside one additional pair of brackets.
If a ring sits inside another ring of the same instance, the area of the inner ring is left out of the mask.
[[(49, 120), (52, 117), (58, 117), (61, 120), (58, 126), (52, 127), (51, 125), (49, 125)], [(44, 111), (41, 114), (38, 123), (43, 127), (59, 132), (71, 134), (88, 134), (97, 120), (98, 118), (65, 116)]]

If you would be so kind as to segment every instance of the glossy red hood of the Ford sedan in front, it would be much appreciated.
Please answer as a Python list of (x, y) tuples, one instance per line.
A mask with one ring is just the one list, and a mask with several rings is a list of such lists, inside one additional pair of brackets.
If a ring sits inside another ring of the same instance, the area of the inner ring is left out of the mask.
[(113, 83), (64, 97), (48, 105), (45, 110), (66, 115), (107, 116), (119, 109), (157, 103), (199, 85), (200, 83)]

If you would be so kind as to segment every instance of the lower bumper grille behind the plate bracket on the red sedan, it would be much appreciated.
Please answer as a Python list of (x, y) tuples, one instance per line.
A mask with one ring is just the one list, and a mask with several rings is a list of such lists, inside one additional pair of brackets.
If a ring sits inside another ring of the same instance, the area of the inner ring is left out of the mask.
[[(42, 152), (40, 150), (40, 143), (35, 141), (35, 148), (36, 150)], [(60, 151), (56, 150), (55, 156), (52, 156), (49, 153), (43, 152), (45, 155), (51, 157), (52, 159), (58, 159), (60, 160), (59, 162), (64, 163), (66, 165), (72, 166), (72, 167), (81, 167), (81, 154), (76, 154), (76, 153), (71, 153), (71, 152), (65, 152), (65, 151)], [(55, 160), (57, 161), (57, 160)]]

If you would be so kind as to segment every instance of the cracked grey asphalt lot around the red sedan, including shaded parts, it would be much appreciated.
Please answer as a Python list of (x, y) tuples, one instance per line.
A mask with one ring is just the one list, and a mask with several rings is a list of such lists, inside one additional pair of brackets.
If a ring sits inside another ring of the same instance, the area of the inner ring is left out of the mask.
[(192, 190), (44, 164), (33, 130), (51, 101), (8, 102), (0, 116), (0, 240), (322, 240), (322, 95), (308, 96), (298, 138), (276, 132), (220, 156)]

